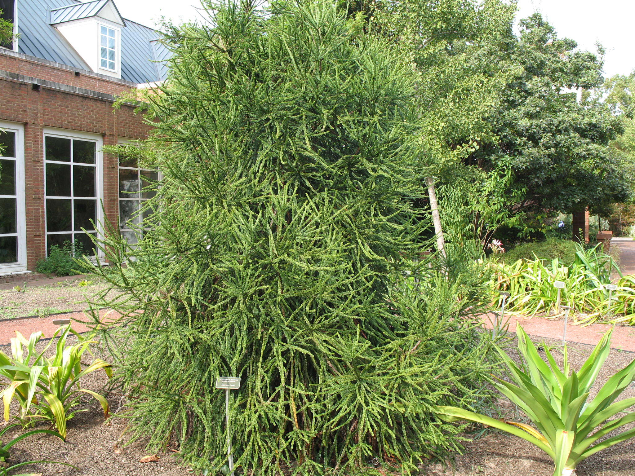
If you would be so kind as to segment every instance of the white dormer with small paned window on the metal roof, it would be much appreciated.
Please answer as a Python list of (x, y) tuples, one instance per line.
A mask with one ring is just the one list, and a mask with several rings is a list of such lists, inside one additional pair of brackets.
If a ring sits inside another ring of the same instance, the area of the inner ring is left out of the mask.
[(50, 11), (50, 22), (94, 72), (121, 77), (121, 29), (112, 0), (76, 3)]

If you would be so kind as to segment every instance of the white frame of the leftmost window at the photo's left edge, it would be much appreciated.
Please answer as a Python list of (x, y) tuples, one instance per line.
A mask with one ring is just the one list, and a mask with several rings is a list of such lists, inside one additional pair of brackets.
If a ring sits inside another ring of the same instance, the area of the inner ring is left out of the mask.
[[(15, 274), (27, 271), (27, 218), (26, 218), (26, 190), (24, 177), (24, 125), (18, 122), (0, 121), (0, 129), (15, 133), (15, 192), (17, 233), (6, 233), (2, 236), (18, 237), (18, 261), (15, 263), (0, 264), (0, 275)], [(11, 159), (13, 157), (2, 157)], [(13, 195), (0, 195), (0, 197), (12, 197)]]

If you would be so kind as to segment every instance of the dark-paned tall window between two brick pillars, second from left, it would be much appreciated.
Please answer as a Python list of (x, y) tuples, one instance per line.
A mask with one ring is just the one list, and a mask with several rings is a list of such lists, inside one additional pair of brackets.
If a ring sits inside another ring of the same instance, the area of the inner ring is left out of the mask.
[(97, 140), (44, 137), (46, 253), (53, 245), (79, 241), (86, 255), (95, 255), (87, 234), (97, 233), (97, 147)]

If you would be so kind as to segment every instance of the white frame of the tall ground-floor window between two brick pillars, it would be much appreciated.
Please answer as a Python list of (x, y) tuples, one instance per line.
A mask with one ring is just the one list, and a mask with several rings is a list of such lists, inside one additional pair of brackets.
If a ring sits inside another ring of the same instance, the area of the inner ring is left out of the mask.
[[(102, 147), (104, 146), (104, 136), (99, 134), (93, 134), (89, 132), (83, 131), (72, 131), (68, 129), (56, 129), (56, 128), (44, 128), (42, 135), (42, 144), (43, 144), (43, 173), (44, 173), (44, 247), (46, 251), (46, 255), (48, 256), (48, 247), (46, 243), (48, 241), (48, 235), (64, 235), (64, 234), (75, 234), (77, 233), (74, 229), (71, 229), (70, 232), (48, 232), (46, 231), (46, 199), (64, 199), (64, 198), (74, 198), (74, 197), (57, 197), (46, 195), (46, 163), (51, 162), (54, 164), (70, 164), (72, 168), (72, 164), (74, 162), (57, 162), (57, 161), (47, 161), (46, 160), (46, 136), (53, 137), (61, 137), (65, 139), (79, 139), (79, 140), (88, 140), (91, 142), (95, 142), (95, 199), (97, 201), (95, 206), (95, 215), (97, 218), (97, 223), (95, 223), (95, 231), (97, 232), (98, 237), (104, 236), (104, 154), (102, 154)], [(72, 169), (71, 169), (72, 170)], [(71, 213), (73, 213), (73, 209), (71, 208)], [(71, 227), (74, 228), (74, 227)], [(97, 249), (97, 258), (100, 262), (104, 261), (104, 252), (100, 249)]]

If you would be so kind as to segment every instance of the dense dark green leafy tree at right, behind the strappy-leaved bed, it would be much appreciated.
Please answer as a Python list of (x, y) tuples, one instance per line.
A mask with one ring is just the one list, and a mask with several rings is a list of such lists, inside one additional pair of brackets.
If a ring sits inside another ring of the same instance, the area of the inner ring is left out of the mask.
[(512, 171), (502, 185), (518, 197), (511, 204), (514, 214), (537, 217), (587, 206), (603, 213), (629, 195), (608, 147), (622, 124), (589, 93), (578, 102), (574, 90), (601, 86), (601, 59), (575, 51), (575, 41), (559, 38), (538, 13), (520, 26), (510, 58), (521, 69), (490, 118), (498, 139), (481, 144), (466, 163), (494, 173)]

